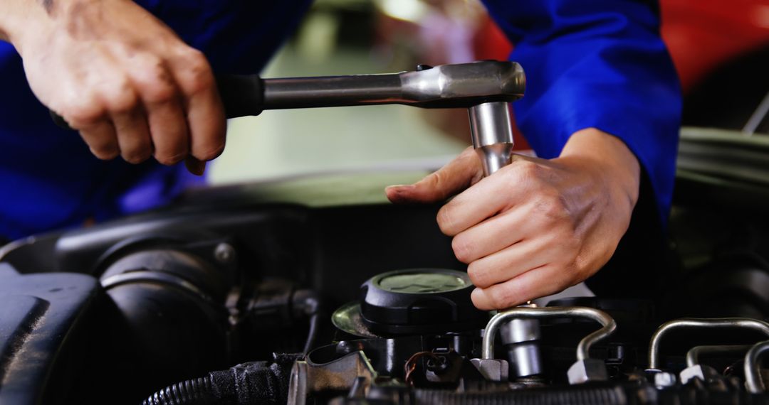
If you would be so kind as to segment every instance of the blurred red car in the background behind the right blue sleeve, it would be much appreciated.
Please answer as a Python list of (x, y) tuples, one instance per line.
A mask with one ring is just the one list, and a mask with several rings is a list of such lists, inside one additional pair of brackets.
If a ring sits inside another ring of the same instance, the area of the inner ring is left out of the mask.
[[(462, 7), (475, 11), (477, 5), (469, 3), (425, 1), (428, 18), (415, 21), (385, 15), (379, 35), (389, 44), (398, 36), (421, 39), (424, 44), (410, 50), (420, 63), (456, 62), (451, 59), (468, 53), (476, 60), (508, 58), (512, 45), (488, 15), (457, 12)], [(769, 97), (769, 0), (661, 0), (661, 20), (681, 77), (683, 124), (743, 129)], [(448, 35), (458, 31), (471, 38)], [(757, 132), (769, 133), (767, 117)]]

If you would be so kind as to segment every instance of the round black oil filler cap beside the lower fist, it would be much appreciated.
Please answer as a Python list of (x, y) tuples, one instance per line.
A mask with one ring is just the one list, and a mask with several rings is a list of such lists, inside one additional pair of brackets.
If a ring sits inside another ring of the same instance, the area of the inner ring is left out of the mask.
[(378, 334), (442, 334), (483, 328), (467, 273), (444, 268), (386, 272), (361, 285), (361, 321)]

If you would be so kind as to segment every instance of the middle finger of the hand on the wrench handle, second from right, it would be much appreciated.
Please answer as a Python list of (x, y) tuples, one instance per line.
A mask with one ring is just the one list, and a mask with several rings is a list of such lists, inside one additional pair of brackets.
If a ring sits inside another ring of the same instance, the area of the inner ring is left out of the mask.
[(155, 160), (172, 165), (189, 153), (189, 131), (181, 97), (160, 59), (144, 58), (132, 77), (145, 106)]

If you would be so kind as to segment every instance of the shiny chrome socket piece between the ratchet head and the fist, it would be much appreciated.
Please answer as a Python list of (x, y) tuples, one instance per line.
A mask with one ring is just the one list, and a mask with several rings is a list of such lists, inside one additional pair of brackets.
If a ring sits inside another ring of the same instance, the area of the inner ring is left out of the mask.
[(508, 103), (484, 103), (468, 108), (473, 147), (481, 157), (484, 176), (510, 163), (513, 125)]

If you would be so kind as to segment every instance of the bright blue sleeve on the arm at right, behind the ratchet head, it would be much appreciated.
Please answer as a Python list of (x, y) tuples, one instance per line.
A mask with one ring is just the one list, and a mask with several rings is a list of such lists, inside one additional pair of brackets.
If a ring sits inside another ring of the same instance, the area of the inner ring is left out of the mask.
[(681, 120), (677, 74), (659, 35), (656, 2), (484, 0), (513, 41), (526, 94), (513, 104), (538, 156), (561, 153), (572, 133), (596, 127), (628, 145), (670, 212)]

